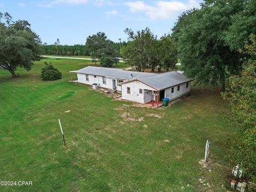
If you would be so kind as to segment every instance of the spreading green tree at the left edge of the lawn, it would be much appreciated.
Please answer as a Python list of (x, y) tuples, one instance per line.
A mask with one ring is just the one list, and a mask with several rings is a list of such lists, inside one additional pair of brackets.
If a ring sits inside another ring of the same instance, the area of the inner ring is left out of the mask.
[[(2, 22), (4, 18), (5, 22)], [(31, 29), (28, 21), (12, 21), (9, 13), (0, 14), (0, 67), (16, 77), (17, 67), (30, 70), (33, 60), (40, 55), (40, 38)]]

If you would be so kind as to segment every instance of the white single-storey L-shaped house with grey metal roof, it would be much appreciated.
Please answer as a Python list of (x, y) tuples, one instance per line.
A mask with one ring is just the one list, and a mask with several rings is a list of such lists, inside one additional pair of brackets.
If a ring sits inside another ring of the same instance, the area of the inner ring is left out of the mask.
[(99, 87), (121, 92), (122, 99), (153, 106), (161, 106), (163, 98), (171, 101), (190, 93), (194, 80), (176, 71), (155, 74), (89, 66), (70, 72), (77, 73), (78, 83), (97, 83)]

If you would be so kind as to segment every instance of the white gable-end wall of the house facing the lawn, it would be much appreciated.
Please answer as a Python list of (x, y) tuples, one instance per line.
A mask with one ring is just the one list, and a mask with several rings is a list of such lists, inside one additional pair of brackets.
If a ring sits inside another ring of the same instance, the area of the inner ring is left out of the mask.
[[(127, 87), (130, 87), (130, 92), (131, 92), (130, 94), (127, 93)], [(142, 89), (142, 94), (140, 93), (140, 89)], [(122, 84), (122, 99), (144, 104), (145, 103), (144, 93), (145, 91), (149, 91), (149, 90), (155, 91), (155, 89), (153, 89), (152, 87), (144, 83), (141, 83), (140, 81), (132, 81), (129, 83), (125, 83), (125, 84)], [(152, 99), (150, 98), (149, 101), (151, 100)]]

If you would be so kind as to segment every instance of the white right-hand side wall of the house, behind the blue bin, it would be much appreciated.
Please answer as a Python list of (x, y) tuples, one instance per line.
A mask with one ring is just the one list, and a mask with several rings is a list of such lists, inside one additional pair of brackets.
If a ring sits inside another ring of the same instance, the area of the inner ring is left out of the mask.
[(190, 92), (191, 83), (188, 82), (188, 87), (186, 87), (187, 83), (180, 84), (180, 90), (177, 91), (178, 86), (174, 87), (174, 92), (172, 93), (172, 87), (169, 87), (165, 89), (165, 98), (168, 98), (170, 100), (177, 99), (181, 97), (182, 95), (185, 95)]

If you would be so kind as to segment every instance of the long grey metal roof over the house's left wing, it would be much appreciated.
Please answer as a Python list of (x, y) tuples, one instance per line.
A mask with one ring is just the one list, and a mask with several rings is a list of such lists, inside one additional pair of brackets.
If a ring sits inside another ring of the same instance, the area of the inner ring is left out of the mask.
[(154, 73), (144, 73), (144, 72), (124, 70), (124, 69), (93, 67), (93, 66), (88, 66), (83, 69), (70, 71), (70, 72), (86, 74), (86, 75), (97, 75), (97, 76), (103, 76), (103, 77), (114, 77), (114, 78), (128, 79), (128, 80), (158, 75)]

